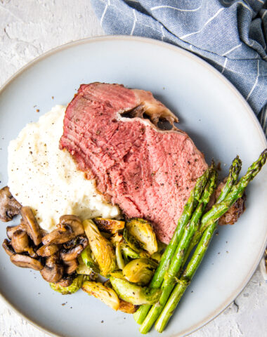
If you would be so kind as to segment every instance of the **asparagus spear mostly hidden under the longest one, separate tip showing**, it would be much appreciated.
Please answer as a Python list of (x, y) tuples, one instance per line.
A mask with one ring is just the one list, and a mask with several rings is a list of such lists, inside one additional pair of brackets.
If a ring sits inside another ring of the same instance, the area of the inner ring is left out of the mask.
[[(221, 201), (223, 201), (226, 198), (227, 194), (230, 192), (233, 185), (237, 182), (237, 178), (239, 176), (241, 166), (242, 166), (242, 161), (240, 160), (238, 156), (235, 157), (235, 159), (232, 162), (232, 165), (230, 166), (229, 175), (226, 180), (226, 184), (223, 186), (221, 193), (219, 195), (219, 198), (216, 200), (216, 204), (219, 204)], [(190, 242), (188, 251), (186, 251), (185, 253), (185, 258), (183, 259), (183, 265), (188, 260), (188, 256), (190, 256), (190, 253), (195, 247), (195, 245), (197, 244), (197, 242), (200, 241), (201, 234), (202, 234), (201, 231), (195, 232), (194, 237), (192, 241)]]

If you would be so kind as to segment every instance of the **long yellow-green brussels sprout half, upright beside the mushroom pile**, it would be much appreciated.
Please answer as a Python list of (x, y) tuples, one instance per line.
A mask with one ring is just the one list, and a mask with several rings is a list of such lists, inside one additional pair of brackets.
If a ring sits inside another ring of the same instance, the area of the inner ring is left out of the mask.
[(117, 267), (113, 246), (108, 239), (100, 234), (93, 220), (84, 220), (83, 225), (91, 251), (100, 267), (100, 273), (107, 276)]

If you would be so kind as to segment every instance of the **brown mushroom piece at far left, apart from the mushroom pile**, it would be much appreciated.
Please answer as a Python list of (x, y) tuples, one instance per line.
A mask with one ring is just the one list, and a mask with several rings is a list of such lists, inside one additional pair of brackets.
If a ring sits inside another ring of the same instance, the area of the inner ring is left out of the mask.
[(20, 213), (21, 205), (6, 186), (0, 190), (0, 220), (6, 223)]

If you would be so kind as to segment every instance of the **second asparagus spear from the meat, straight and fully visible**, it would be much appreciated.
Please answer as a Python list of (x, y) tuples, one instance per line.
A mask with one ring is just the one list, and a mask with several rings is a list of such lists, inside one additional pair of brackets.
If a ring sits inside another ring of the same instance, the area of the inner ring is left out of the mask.
[(202, 216), (202, 213), (207, 206), (211, 194), (213, 194), (216, 187), (217, 172), (214, 168), (214, 163), (212, 163), (211, 165), (210, 174), (210, 181), (209, 183), (207, 183), (204, 189), (199, 205), (193, 213), (190, 222), (188, 223), (188, 225), (185, 226), (183, 236), (181, 237), (181, 241), (177, 246), (174, 257), (171, 260), (169, 270), (165, 273), (164, 282), (162, 283), (161, 287), (162, 294), (159, 298), (159, 302), (155, 305), (152, 305), (152, 308), (148, 312), (148, 315), (145, 317), (139, 329), (141, 333), (148, 333), (148, 331), (150, 331), (157, 317), (159, 317), (160, 312), (162, 312), (164, 305), (169, 298), (169, 294), (171, 293), (172, 289), (174, 289), (174, 286), (176, 284), (176, 275), (178, 274), (181, 268), (181, 264), (183, 263), (184, 252), (188, 249), (193, 234), (195, 233), (195, 231), (197, 230), (197, 226), (199, 225), (199, 220)]

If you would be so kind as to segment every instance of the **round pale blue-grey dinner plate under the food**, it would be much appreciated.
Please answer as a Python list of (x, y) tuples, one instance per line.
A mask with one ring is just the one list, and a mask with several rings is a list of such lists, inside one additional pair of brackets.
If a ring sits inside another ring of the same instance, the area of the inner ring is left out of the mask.
[[(46, 53), (1, 90), (1, 187), (7, 183), (8, 142), (53, 105), (70, 102), (79, 84), (93, 81), (152, 91), (177, 114), (180, 128), (189, 133), (207, 161), (211, 157), (221, 161), (222, 175), (236, 154), (246, 169), (266, 147), (261, 127), (240, 93), (200, 58), (150, 39), (86, 39)], [(214, 237), (164, 336), (183, 336), (207, 323), (249, 281), (266, 245), (266, 169), (247, 189), (245, 214), (236, 225), (221, 227)], [(1, 241), (5, 227), (1, 224)], [(12, 265), (3, 250), (0, 265), (2, 296), (47, 332), (67, 337), (138, 336), (131, 315), (114, 312), (83, 291), (72, 296), (52, 291), (38, 272)], [(152, 331), (150, 336), (159, 335)]]

